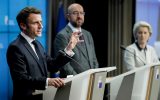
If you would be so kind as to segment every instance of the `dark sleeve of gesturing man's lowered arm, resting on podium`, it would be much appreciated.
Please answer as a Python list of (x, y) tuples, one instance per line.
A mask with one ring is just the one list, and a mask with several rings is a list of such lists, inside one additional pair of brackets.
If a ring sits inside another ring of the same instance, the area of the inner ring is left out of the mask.
[[(7, 62), (13, 82), (19, 87), (30, 89), (45, 89), (46, 77), (32, 77), (29, 63), (24, 55), (25, 51), (18, 46), (11, 45), (7, 50)], [(34, 65), (34, 63), (32, 63)]]

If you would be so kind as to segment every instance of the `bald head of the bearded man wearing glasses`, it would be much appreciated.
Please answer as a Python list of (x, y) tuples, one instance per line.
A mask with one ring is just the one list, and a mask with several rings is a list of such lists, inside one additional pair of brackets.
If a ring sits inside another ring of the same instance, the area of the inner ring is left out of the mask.
[(74, 6), (68, 14), (68, 20), (74, 27), (79, 28), (84, 23), (84, 14), (81, 6)]

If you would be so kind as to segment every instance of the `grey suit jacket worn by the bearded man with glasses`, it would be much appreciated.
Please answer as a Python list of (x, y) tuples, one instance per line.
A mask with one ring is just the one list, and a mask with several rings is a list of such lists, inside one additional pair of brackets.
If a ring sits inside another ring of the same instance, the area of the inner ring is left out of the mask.
[[(61, 30), (55, 37), (54, 41), (54, 53), (57, 53), (60, 49), (65, 49), (71, 37), (72, 30), (67, 25), (63, 30)], [(94, 42), (90, 32), (82, 29), (83, 33), (83, 43), (78, 43), (73, 49), (75, 53), (73, 59), (76, 60), (81, 66), (79, 66), (75, 61), (71, 61), (66, 64), (60, 70), (60, 76), (66, 77), (66, 75), (75, 75), (86, 71), (91, 68), (98, 68), (98, 61), (95, 54)]]

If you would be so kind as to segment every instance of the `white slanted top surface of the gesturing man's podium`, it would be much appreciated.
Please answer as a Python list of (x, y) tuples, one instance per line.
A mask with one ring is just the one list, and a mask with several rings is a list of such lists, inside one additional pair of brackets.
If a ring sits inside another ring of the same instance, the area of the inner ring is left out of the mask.
[(113, 71), (115, 69), (117, 69), (115, 66), (113, 66), (113, 67), (104, 67), (104, 68), (96, 68), (96, 69), (89, 69), (89, 70), (84, 71), (84, 72), (82, 72), (80, 74), (77, 74), (77, 75), (75, 75), (73, 77), (66, 78), (64, 80), (64, 83), (68, 83), (68, 82), (72, 81), (75, 78), (83, 77), (85, 75), (89, 75), (89, 74), (92, 74), (92, 73), (104, 72), (104, 71), (105, 72), (110, 72), (110, 71)]

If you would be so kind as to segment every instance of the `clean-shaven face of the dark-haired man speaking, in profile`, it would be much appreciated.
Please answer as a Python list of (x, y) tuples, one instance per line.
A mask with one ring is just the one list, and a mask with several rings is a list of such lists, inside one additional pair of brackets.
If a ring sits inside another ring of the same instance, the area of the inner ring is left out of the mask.
[(30, 14), (27, 19), (27, 24), (24, 25), (23, 31), (31, 38), (42, 35), (42, 18), (40, 14)]

